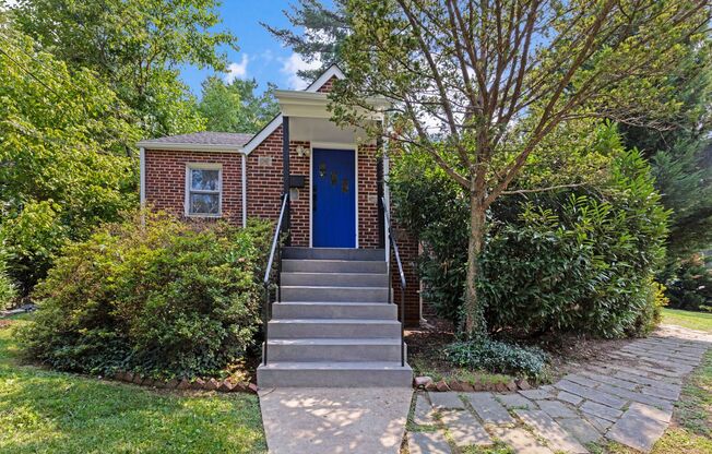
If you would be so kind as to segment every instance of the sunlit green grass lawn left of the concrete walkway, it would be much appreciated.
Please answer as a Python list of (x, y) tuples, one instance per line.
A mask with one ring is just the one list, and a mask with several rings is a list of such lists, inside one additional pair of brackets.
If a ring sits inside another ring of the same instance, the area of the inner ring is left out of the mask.
[(0, 327), (0, 452), (263, 453), (266, 447), (257, 396), (183, 396), (23, 366), (12, 328)]

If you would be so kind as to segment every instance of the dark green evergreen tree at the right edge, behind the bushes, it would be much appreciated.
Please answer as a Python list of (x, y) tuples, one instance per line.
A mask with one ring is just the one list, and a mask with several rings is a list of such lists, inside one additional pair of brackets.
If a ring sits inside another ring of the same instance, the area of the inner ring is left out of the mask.
[(624, 129), (629, 146), (651, 160), (663, 203), (673, 211), (669, 259), (712, 247), (712, 39), (688, 43), (668, 84), (680, 104), (671, 128)]

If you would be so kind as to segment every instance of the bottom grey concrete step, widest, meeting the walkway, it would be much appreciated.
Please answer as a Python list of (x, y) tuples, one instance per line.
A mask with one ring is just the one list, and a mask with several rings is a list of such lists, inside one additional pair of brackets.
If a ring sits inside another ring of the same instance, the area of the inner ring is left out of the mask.
[(400, 387), (413, 385), (413, 369), (406, 363), (377, 362), (268, 362), (257, 369), (260, 389), (293, 387)]

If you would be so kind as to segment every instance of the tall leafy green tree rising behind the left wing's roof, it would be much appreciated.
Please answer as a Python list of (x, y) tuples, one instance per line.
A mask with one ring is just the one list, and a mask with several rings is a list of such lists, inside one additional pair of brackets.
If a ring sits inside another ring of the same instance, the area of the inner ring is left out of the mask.
[(182, 64), (225, 70), (217, 0), (21, 0), (15, 21), (71, 69), (96, 71), (129, 105), (149, 135), (202, 128)]

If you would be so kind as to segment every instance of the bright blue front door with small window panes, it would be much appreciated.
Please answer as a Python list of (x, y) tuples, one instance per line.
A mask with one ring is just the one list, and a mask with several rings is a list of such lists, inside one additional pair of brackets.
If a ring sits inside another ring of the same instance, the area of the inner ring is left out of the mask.
[(356, 172), (353, 150), (315, 150), (312, 246), (356, 247)]

